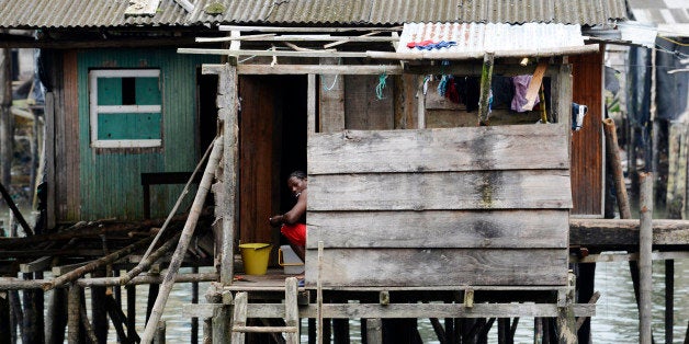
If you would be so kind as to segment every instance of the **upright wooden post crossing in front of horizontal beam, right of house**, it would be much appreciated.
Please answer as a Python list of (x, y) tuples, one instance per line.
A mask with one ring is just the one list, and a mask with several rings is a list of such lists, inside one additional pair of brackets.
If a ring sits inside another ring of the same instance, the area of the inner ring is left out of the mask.
[(640, 232), (639, 232), (639, 342), (651, 344), (651, 324), (653, 314), (653, 173), (640, 173), (641, 199), (640, 199)]

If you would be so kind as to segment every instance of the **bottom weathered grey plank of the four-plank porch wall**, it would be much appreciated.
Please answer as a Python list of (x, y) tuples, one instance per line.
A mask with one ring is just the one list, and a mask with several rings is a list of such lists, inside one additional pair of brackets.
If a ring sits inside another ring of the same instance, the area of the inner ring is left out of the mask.
[[(306, 253), (306, 284), (317, 256)], [(566, 285), (567, 250), (328, 249), (320, 271), (327, 286)]]

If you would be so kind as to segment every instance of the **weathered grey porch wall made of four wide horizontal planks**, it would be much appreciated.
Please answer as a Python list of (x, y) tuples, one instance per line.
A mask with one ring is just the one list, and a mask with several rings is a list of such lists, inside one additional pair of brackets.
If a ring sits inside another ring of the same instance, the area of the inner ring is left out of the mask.
[(565, 285), (567, 131), (313, 134), (307, 284), (320, 274), (324, 287)]

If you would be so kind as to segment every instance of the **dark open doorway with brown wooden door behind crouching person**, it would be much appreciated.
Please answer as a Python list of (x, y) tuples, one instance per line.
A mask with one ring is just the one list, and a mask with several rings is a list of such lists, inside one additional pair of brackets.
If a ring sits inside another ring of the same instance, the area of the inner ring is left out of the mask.
[(293, 205), (286, 179), (306, 170), (306, 77), (241, 76), (239, 239), (278, 244), (268, 223)]

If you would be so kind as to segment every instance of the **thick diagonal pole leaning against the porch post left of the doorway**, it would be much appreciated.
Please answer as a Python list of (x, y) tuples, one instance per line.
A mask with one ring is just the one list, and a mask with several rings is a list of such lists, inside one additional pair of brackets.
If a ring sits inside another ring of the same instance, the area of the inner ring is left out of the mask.
[(196, 193), (196, 197), (194, 198), (194, 203), (192, 204), (187, 223), (184, 223), (184, 229), (182, 230), (177, 250), (172, 255), (172, 261), (170, 262), (168, 272), (165, 276), (165, 279), (162, 280), (162, 285), (160, 288), (161, 290), (156, 298), (156, 303), (154, 305), (150, 319), (148, 319), (148, 322), (146, 323), (146, 330), (144, 331), (144, 334), (142, 336), (142, 343), (144, 344), (151, 343), (154, 339), (154, 335), (156, 333), (156, 326), (158, 325), (158, 321), (160, 321), (160, 318), (162, 317), (162, 310), (165, 309), (168, 296), (170, 295), (172, 286), (174, 285), (174, 277), (177, 276), (178, 270), (180, 268), (180, 266), (182, 265), (182, 261), (184, 260), (184, 254), (187, 253), (189, 242), (191, 241), (191, 238), (194, 233), (196, 221), (199, 220), (203, 203), (206, 198), (208, 190), (211, 188), (211, 183), (213, 182), (213, 176), (215, 174), (215, 170), (222, 153), (223, 137), (221, 136), (215, 140), (215, 144), (213, 145), (213, 151), (211, 152), (211, 157), (208, 158), (208, 163), (205, 168), (201, 184), (199, 185), (199, 192)]

